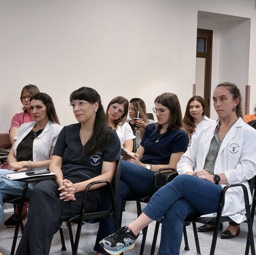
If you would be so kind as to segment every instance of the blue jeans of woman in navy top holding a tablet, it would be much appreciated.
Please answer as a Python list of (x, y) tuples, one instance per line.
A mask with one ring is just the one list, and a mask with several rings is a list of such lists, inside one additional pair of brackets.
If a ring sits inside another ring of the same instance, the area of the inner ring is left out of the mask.
[(119, 200), (117, 203), (117, 215), (121, 212), (121, 200), (131, 198), (143, 198), (150, 196), (153, 191), (153, 180), (155, 172), (146, 167), (123, 160)]

